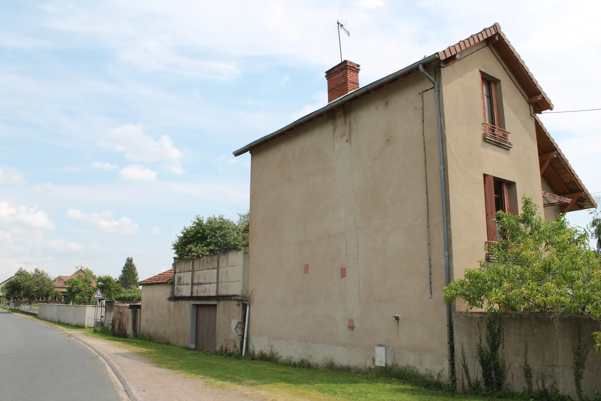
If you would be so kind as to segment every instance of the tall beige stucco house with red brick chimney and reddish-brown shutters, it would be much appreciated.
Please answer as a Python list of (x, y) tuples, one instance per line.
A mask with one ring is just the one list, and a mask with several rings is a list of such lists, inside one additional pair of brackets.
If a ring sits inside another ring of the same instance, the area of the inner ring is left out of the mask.
[(359, 69), (338, 64), (327, 106), (234, 152), (252, 155), (249, 347), (446, 376), (461, 305), (442, 289), (486, 258), (496, 210), (596, 205), (498, 24), (364, 87)]

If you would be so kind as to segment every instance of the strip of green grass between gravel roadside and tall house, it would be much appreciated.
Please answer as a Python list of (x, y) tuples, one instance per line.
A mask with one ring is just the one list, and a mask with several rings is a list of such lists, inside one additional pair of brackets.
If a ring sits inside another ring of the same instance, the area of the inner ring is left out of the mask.
[[(238, 360), (183, 347), (117, 338), (90, 332), (144, 355), (152, 363), (188, 376), (208, 379), (220, 387), (240, 385), (250, 393), (308, 400), (484, 400), (482, 397), (426, 390), (400, 380), (376, 378), (371, 373), (287, 367), (264, 361)], [(276, 399), (280, 399), (279, 397)]]

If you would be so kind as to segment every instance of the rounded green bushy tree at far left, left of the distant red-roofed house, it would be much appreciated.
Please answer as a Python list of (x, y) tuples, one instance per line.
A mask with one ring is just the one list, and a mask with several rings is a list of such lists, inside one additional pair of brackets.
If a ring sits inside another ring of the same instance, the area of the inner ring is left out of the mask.
[(52, 277), (41, 269), (28, 272), (19, 268), (13, 278), (2, 286), (8, 299), (34, 301), (35, 299), (55, 299), (60, 293), (52, 285)]

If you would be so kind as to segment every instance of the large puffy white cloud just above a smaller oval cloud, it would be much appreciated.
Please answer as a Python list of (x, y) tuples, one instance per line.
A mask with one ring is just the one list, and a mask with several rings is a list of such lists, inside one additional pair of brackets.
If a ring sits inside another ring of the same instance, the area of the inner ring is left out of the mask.
[(127, 124), (113, 129), (100, 146), (117, 152), (125, 152), (125, 158), (133, 162), (163, 162), (163, 167), (175, 174), (182, 174), (182, 152), (174, 146), (169, 135), (158, 141), (142, 132), (142, 124)]

